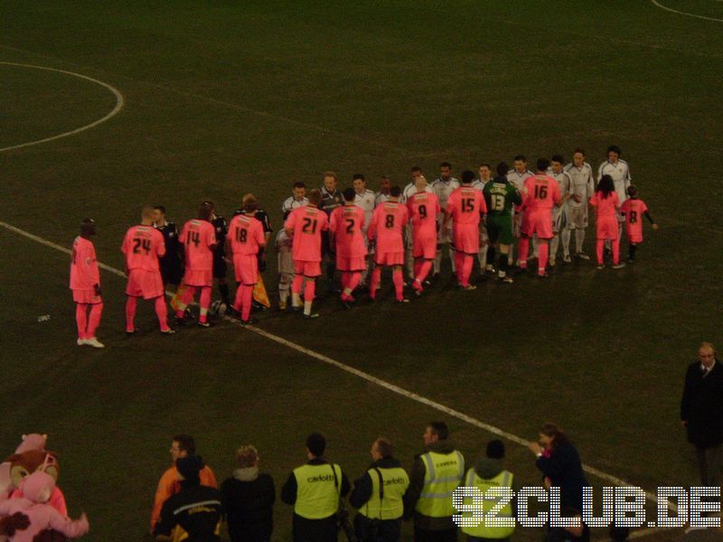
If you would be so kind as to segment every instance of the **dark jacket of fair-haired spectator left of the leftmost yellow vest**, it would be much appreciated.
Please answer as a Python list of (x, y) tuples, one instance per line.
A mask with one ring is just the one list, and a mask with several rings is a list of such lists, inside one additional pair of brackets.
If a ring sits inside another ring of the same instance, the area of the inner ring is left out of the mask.
[(274, 479), (256, 467), (237, 469), (221, 484), (231, 542), (264, 542), (274, 528)]

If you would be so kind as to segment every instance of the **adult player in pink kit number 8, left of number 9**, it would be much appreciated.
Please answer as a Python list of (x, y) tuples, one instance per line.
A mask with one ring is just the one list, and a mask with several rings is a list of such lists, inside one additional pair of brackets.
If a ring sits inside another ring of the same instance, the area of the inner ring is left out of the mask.
[(404, 239), (402, 232), (408, 221), (408, 210), (405, 205), (399, 203), (401, 190), (399, 186), (392, 186), (390, 199), (381, 203), (374, 210), (371, 216), (371, 223), (367, 230), (367, 237), (373, 241), (376, 239), (377, 248), (374, 253), (376, 266), (371, 272), (369, 283), (369, 296), (374, 301), (377, 297), (377, 286), (381, 282), (381, 266), (392, 268), (392, 281), (397, 296), (397, 303), (408, 303), (404, 298), (404, 276), (401, 268), (404, 265)]

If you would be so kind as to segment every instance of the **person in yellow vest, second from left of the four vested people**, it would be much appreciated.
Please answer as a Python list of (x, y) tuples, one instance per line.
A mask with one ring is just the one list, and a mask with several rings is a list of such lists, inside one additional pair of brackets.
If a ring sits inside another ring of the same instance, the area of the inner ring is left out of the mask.
[(374, 463), (354, 482), (349, 496), (352, 506), (359, 509), (354, 530), (360, 542), (397, 542), (409, 477), (392, 457), (391, 443), (385, 438), (371, 444), (371, 459)]

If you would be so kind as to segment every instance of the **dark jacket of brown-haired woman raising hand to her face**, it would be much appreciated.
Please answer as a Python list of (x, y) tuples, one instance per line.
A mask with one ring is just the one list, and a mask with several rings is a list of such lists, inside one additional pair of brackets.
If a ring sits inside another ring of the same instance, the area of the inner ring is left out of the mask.
[(536, 464), (549, 478), (551, 485), (559, 487), (560, 507), (582, 510), (582, 488), (589, 484), (575, 446), (570, 443), (559, 444), (549, 455), (540, 455)]

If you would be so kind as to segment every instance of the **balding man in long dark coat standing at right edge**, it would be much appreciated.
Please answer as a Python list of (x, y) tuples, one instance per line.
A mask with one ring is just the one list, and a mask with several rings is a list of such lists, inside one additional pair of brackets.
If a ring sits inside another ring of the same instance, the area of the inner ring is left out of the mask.
[(719, 486), (723, 469), (723, 366), (710, 342), (700, 343), (698, 361), (688, 366), (681, 423), (695, 446), (700, 483)]

